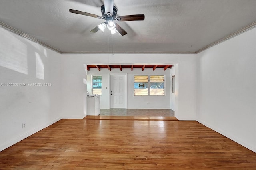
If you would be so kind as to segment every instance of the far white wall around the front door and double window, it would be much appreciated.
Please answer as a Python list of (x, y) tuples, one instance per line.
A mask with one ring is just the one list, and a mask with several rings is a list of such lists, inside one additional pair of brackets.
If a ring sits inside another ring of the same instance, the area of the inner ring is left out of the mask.
[[(170, 109), (170, 69), (152, 68), (142, 69), (90, 69), (87, 81), (88, 90), (91, 92), (91, 76), (102, 75), (102, 95), (100, 96), (101, 108), (110, 108), (110, 73), (127, 74), (127, 108), (128, 109)], [(165, 96), (134, 96), (134, 75), (165, 75)], [(107, 87), (107, 89), (106, 89)], [(91, 94), (91, 93), (90, 93)]]

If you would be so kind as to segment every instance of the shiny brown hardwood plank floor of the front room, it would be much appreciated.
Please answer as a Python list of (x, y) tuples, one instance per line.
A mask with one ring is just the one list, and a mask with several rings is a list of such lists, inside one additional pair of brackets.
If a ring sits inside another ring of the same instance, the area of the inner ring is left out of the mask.
[(256, 153), (196, 121), (62, 119), (0, 152), (1, 170), (256, 169)]

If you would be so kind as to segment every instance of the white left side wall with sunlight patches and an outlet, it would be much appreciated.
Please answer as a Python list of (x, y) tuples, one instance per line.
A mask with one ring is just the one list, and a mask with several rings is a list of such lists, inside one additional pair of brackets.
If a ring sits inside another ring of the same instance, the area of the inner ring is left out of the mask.
[[(0, 83), (3, 83), (0, 150), (3, 150), (60, 120), (61, 70), (60, 54), (3, 28), (0, 34)], [(25, 87), (20, 83), (51, 83), (51, 86)]]

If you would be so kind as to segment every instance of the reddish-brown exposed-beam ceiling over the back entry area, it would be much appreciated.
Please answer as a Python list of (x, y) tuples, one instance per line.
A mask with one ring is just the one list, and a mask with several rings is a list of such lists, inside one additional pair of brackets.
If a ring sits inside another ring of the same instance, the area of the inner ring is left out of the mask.
[(112, 69), (141, 69), (144, 71), (144, 69), (151, 68), (153, 71), (156, 70), (156, 68), (162, 68), (163, 70), (166, 70), (168, 68), (171, 68), (173, 65), (87, 65), (87, 70), (90, 69), (98, 69), (101, 71), (102, 69), (108, 69), (111, 71)]

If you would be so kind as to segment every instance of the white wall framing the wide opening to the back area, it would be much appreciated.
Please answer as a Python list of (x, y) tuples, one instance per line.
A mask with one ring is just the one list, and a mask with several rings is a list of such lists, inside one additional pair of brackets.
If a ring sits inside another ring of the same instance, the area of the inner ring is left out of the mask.
[[(175, 116), (180, 120), (196, 119), (196, 55), (192, 54), (66, 54), (62, 55), (62, 114), (64, 118), (84, 117), (83, 64), (176, 64), (179, 65), (179, 99)], [(89, 73), (90, 71), (88, 71)], [(114, 73), (110, 71), (111, 73)], [(116, 72), (116, 73), (124, 73)], [(135, 73), (135, 72), (132, 72)], [(140, 71), (141, 73), (141, 71)], [(170, 74), (170, 73), (168, 73)], [(177, 77), (176, 77), (177, 79)], [(109, 80), (108, 80), (109, 81)], [(88, 81), (89, 82), (89, 81)], [(102, 85), (103, 86), (103, 85)], [(128, 92), (130, 93), (130, 92)], [(170, 93), (170, 91), (169, 91)], [(132, 93), (133, 94), (133, 93)], [(129, 99), (128, 99), (129, 100)], [(168, 99), (170, 105), (170, 97)], [(130, 100), (128, 106), (133, 107)], [(152, 103), (152, 102), (151, 102)], [(176, 102), (178, 103), (178, 102)], [(104, 104), (102, 104), (104, 105)], [(107, 104), (108, 105), (108, 104)], [(103, 107), (103, 106), (102, 106)], [(104, 107), (107, 107), (106, 105)], [(144, 105), (143, 107), (147, 107)]]

